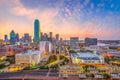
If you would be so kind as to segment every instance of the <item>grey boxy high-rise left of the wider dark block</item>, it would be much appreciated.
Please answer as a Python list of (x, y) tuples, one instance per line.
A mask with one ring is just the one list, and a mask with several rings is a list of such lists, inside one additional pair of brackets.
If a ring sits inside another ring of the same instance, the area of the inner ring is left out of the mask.
[(79, 38), (78, 37), (70, 37), (70, 48), (71, 49), (79, 48)]

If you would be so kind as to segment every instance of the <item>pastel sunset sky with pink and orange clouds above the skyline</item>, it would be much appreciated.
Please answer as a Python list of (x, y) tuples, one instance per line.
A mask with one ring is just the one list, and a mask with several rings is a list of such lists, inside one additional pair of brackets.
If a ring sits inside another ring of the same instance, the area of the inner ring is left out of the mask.
[(120, 0), (0, 0), (0, 38), (33, 36), (36, 18), (42, 32), (63, 38), (120, 39)]

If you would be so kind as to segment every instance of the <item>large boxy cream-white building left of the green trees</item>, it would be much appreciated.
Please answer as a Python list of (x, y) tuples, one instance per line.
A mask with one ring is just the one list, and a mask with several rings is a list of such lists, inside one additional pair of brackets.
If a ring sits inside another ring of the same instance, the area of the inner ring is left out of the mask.
[(43, 51), (29, 50), (26, 53), (20, 53), (15, 55), (16, 64), (38, 64), (44, 58)]

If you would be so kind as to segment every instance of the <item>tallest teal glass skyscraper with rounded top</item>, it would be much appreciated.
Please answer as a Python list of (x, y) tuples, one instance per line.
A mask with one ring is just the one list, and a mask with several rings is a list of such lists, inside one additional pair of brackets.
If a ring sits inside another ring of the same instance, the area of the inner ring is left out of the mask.
[(34, 42), (40, 41), (40, 23), (38, 19), (34, 21)]

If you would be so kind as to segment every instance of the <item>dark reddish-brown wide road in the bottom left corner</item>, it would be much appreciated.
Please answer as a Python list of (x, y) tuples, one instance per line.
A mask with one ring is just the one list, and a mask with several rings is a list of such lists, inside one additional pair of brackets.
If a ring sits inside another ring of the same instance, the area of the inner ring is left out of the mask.
[(55, 78), (59, 76), (58, 70), (36, 70), (36, 71), (20, 71), (20, 72), (11, 72), (11, 73), (0, 73), (1, 79), (37, 79), (37, 78)]

